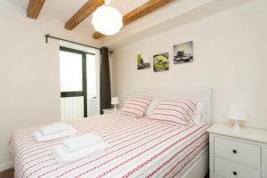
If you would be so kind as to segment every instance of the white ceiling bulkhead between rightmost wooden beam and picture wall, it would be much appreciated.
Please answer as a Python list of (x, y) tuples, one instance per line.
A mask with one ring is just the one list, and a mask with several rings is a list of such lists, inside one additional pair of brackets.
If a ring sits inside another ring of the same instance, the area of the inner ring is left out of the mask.
[[(182, 27), (253, 0), (177, 0), (134, 20), (114, 36), (105, 36), (102, 43), (111, 48), (131, 44), (171, 28)], [(134, 1), (135, 2), (135, 1)], [(136, 1), (137, 2), (137, 1)]]

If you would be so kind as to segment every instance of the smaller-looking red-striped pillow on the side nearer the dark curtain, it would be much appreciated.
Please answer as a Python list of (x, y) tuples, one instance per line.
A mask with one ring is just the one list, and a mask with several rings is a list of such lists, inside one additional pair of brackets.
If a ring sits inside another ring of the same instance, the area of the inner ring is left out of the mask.
[(150, 99), (129, 97), (119, 113), (140, 118), (143, 117), (149, 105)]

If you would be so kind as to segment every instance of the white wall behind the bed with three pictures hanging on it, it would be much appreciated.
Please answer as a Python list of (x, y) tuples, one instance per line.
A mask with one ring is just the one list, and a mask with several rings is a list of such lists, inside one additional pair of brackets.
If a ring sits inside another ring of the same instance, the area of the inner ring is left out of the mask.
[[(223, 122), (231, 102), (243, 104), (247, 125), (267, 128), (267, 2), (255, 0), (206, 19), (114, 49), (113, 89), (201, 86), (213, 89), (213, 116)], [(194, 42), (194, 62), (173, 64), (173, 45)], [(170, 53), (170, 70), (136, 69), (136, 54)]]

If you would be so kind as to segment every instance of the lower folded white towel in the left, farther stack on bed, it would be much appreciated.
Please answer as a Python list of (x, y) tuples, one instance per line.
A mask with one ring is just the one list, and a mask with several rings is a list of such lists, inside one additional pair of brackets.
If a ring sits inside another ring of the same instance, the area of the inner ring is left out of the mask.
[(77, 130), (73, 127), (70, 127), (69, 130), (65, 130), (61, 133), (57, 134), (50, 134), (50, 135), (43, 135), (40, 131), (36, 131), (34, 133), (36, 142), (48, 142), (57, 139), (61, 139), (64, 137), (74, 136), (77, 133)]

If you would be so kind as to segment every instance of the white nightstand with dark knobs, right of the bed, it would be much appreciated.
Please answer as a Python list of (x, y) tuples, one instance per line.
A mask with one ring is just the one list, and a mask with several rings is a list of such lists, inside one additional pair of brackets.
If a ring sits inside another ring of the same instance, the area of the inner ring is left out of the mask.
[(210, 178), (267, 178), (267, 131), (234, 130), (212, 125), (209, 133)]

